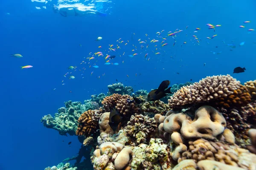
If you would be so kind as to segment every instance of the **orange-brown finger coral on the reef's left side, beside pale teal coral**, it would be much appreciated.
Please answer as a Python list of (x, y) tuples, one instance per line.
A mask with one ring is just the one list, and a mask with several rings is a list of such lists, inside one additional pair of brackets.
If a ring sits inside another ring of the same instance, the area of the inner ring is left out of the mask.
[(96, 131), (98, 127), (98, 121), (94, 119), (94, 114), (98, 110), (88, 110), (81, 114), (78, 119), (78, 127), (76, 130), (76, 135), (79, 136), (90, 136)]

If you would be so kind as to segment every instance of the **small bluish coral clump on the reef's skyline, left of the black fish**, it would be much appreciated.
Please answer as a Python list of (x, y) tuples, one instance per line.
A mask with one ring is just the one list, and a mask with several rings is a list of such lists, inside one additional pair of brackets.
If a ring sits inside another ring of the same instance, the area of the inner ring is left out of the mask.
[(131, 95), (133, 88), (131, 86), (124, 86), (122, 83), (115, 83), (108, 85), (108, 96), (112, 94), (128, 94)]

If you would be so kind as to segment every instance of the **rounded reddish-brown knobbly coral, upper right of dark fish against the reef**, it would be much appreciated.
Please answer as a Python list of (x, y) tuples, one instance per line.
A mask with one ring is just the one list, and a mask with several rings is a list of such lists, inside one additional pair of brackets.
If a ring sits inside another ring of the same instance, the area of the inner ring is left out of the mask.
[(116, 101), (116, 109), (123, 115), (131, 115), (137, 113), (139, 108), (135, 105), (134, 102), (128, 102), (127, 99), (132, 99), (129, 95), (122, 95)]

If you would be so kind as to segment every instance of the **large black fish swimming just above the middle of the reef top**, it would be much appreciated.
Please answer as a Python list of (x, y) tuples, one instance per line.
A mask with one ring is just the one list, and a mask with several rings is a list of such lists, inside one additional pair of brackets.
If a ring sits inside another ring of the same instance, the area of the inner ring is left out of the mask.
[[(163, 87), (166, 87), (166, 84), (165, 84), (166, 81), (169, 81), (169, 80), (165, 80), (165, 81), (161, 82), (160, 86), (163, 85)], [(170, 82), (169, 82), (169, 84), (170, 84)], [(160, 86), (159, 86), (159, 88), (160, 88)], [(166, 87), (167, 89), (163, 89), (163, 87), (161, 86), (161, 88), (160, 88), (161, 90), (155, 89), (155, 90), (152, 90), (151, 92), (149, 92), (147, 100), (153, 102), (153, 101), (162, 99), (163, 97), (167, 96), (167, 94), (172, 94), (172, 92), (170, 91), (172, 87), (167, 88), (168, 87), (167, 86)], [(157, 91), (159, 91), (159, 92), (157, 93)]]

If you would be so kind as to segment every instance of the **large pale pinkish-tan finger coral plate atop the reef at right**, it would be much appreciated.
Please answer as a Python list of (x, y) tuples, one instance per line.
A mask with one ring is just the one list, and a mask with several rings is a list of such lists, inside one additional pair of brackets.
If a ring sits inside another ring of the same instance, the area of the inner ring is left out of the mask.
[(169, 105), (172, 108), (187, 104), (207, 102), (212, 99), (227, 98), (240, 88), (240, 82), (227, 76), (212, 76), (201, 79), (193, 85), (183, 86), (171, 96)]

